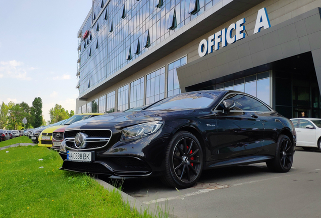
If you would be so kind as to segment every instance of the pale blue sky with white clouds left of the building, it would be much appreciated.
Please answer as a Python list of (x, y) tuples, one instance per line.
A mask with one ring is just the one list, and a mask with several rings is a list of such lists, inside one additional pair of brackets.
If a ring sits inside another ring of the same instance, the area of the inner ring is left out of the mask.
[(0, 103), (42, 99), (75, 111), (77, 33), (91, 0), (0, 1)]

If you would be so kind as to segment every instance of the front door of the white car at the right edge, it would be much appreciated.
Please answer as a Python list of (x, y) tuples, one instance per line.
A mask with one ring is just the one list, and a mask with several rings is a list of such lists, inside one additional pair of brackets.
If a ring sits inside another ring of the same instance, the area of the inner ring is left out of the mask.
[[(306, 128), (306, 126), (312, 126), (313, 129)], [(297, 133), (297, 146), (315, 146), (315, 132), (316, 128), (314, 125), (304, 119), (300, 119), (297, 123), (298, 128), (295, 128)]]

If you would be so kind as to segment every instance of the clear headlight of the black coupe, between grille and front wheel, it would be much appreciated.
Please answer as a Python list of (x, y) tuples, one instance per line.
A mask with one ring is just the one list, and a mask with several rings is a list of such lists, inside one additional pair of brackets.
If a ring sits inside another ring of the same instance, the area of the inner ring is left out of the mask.
[(153, 121), (124, 128), (122, 131), (121, 141), (132, 141), (146, 137), (161, 129), (164, 126), (163, 124), (163, 121)]

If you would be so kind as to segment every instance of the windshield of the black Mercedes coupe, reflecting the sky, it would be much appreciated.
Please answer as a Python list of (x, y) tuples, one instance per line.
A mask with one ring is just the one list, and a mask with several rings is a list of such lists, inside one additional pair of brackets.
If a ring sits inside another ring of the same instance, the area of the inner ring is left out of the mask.
[(209, 106), (216, 98), (217, 95), (206, 92), (178, 94), (151, 105), (146, 111), (204, 108)]

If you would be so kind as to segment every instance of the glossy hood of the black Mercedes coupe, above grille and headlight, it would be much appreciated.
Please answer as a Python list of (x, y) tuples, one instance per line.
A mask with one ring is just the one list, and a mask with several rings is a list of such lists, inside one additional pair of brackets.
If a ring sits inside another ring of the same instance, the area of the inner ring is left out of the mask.
[(122, 112), (122, 113), (110, 113), (101, 115), (87, 120), (71, 124), (68, 129), (108, 129), (124, 128), (127, 126), (137, 125), (152, 121), (161, 121), (171, 119), (175, 116), (175, 119), (179, 117), (185, 117), (195, 113), (195, 110), (179, 110), (179, 111), (139, 111), (139, 112)]

